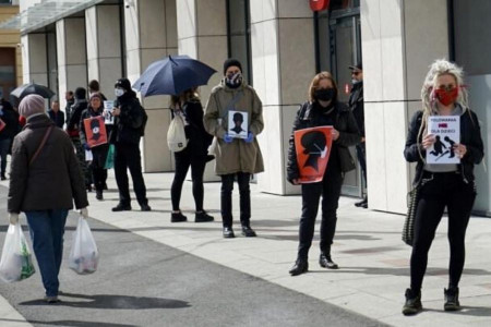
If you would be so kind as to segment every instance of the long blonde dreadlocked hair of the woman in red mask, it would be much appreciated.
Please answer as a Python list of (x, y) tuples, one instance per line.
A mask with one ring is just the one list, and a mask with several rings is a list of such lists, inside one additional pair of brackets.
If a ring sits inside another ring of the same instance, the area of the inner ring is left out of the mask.
[[(438, 112), (436, 99), (434, 97), (434, 89), (436, 87), (438, 78), (442, 75), (452, 75), (455, 78), (456, 87), (458, 87), (458, 97), (457, 102), (462, 106), (464, 111), (467, 111), (470, 114), (469, 105), (468, 105), (468, 94), (467, 89), (464, 86), (464, 70), (456, 65), (453, 62), (450, 62), (445, 59), (435, 60), (430, 65), (430, 71), (424, 77), (424, 82), (421, 88), (421, 102), (422, 102), (422, 119), (421, 126), (419, 128), (417, 143), (419, 145), (419, 140), (422, 138), (422, 135), (427, 134), (428, 126), (427, 121), (431, 114)], [(420, 148), (420, 147), (418, 147)], [(422, 155), (420, 153), (422, 158)]]

